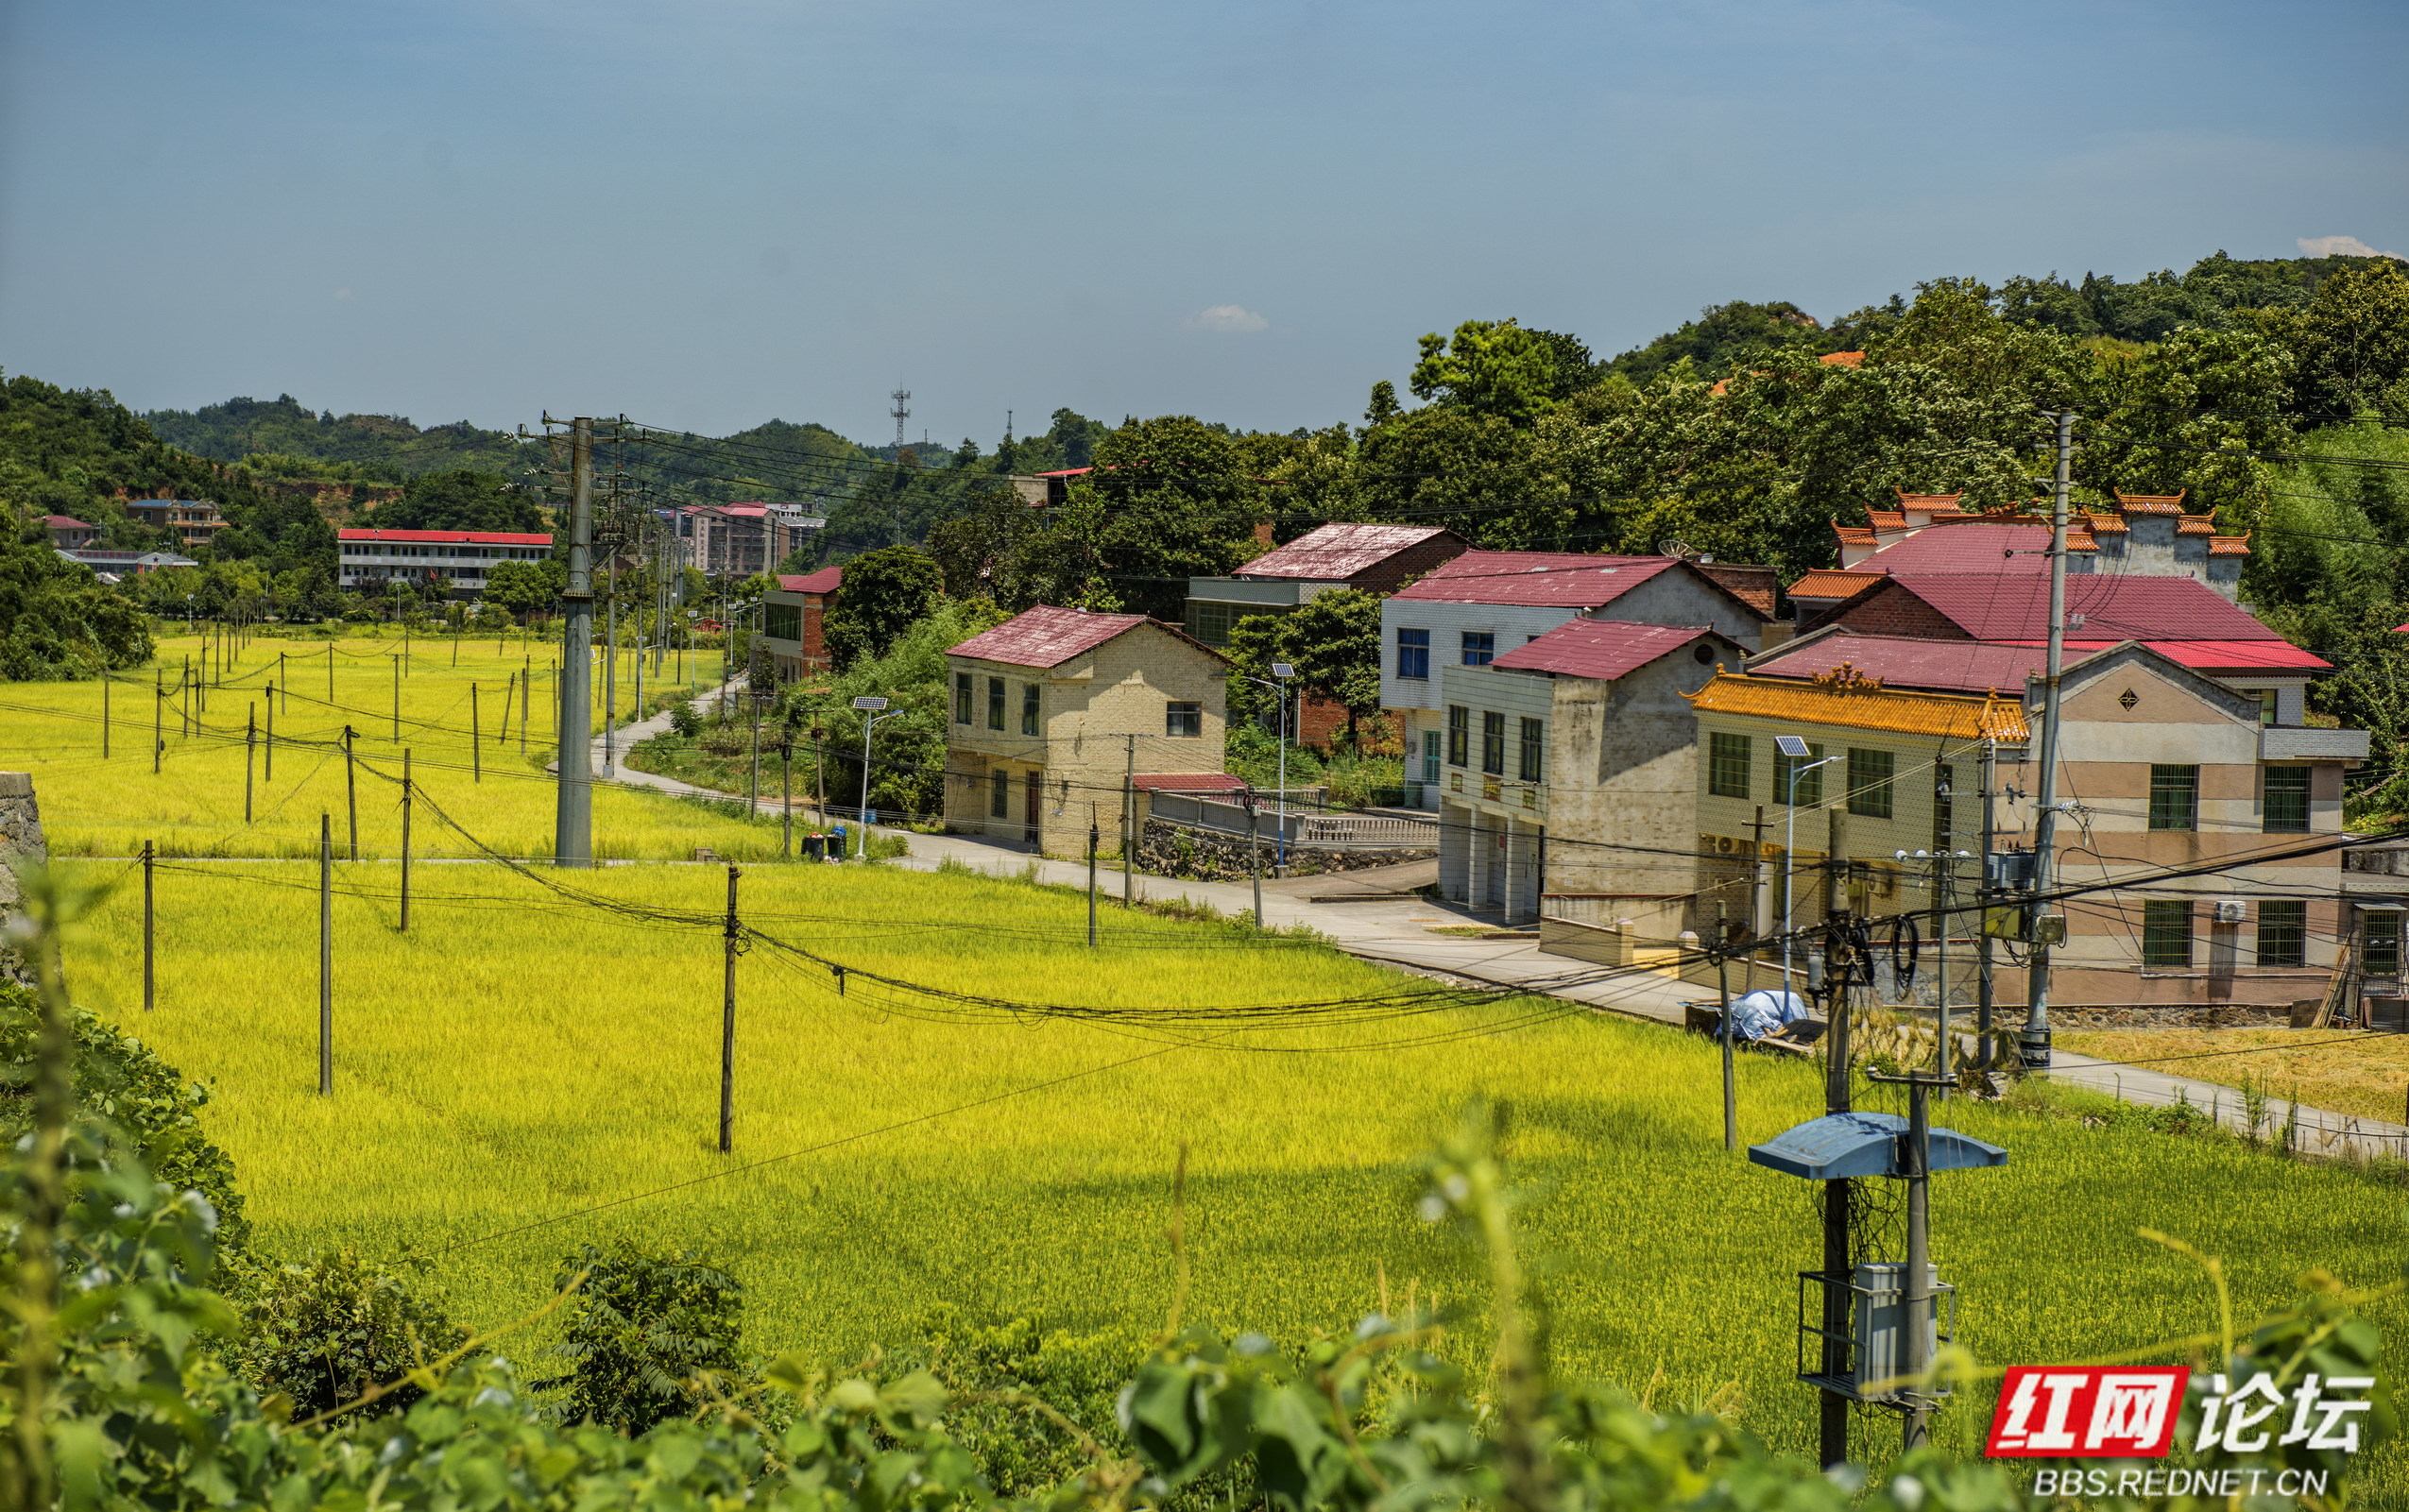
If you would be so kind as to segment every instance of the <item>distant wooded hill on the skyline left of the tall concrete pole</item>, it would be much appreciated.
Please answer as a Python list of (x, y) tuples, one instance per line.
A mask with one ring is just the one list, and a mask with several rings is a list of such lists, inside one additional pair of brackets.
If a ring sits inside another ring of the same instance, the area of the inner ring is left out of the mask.
[(301, 462), (332, 465), (320, 477), (397, 484), (419, 472), (482, 467), (520, 472), (525, 443), (506, 431), (472, 424), (419, 429), (397, 414), (313, 412), (291, 395), (275, 400), (226, 400), (200, 409), (152, 409), (142, 417), (152, 433), (219, 462), (270, 460), (265, 472), (294, 477)]

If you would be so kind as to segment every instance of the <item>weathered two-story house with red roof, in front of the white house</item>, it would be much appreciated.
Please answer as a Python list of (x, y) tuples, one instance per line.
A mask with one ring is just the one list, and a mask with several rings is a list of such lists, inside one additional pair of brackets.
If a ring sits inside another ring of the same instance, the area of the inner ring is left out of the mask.
[(1486, 665), (1438, 667), (1441, 896), (1506, 922), (1537, 917), (1542, 896), (1583, 922), (1679, 915), (1696, 833), (1681, 696), (1744, 657), (1710, 628), (1568, 619)]

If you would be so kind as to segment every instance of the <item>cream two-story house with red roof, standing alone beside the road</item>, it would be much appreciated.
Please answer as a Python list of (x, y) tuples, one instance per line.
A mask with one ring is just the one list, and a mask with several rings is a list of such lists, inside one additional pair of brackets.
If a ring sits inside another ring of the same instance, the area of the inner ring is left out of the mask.
[(1113, 850), (1130, 792), (1229, 785), (1229, 660), (1178, 626), (1038, 604), (944, 660), (956, 831), (1079, 855), (1094, 823)]

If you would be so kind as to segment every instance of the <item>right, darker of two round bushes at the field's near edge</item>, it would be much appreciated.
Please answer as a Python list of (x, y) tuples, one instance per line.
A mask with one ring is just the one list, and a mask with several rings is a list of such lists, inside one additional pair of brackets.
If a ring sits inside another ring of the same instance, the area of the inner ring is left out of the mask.
[(744, 1288), (691, 1252), (581, 1245), (554, 1286), (576, 1286), (554, 1351), (569, 1360), (571, 1423), (634, 1437), (694, 1416), (715, 1382), (744, 1370)]

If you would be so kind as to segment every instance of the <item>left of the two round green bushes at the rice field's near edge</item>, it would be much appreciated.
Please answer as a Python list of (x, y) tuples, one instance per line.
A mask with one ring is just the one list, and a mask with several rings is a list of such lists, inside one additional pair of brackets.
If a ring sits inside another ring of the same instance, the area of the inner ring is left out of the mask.
[[(243, 1307), (236, 1370), (260, 1392), (291, 1399), (296, 1416), (349, 1406), (467, 1339), (412, 1276), (357, 1250), (263, 1266), (236, 1295)], [(412, 1382), (364, 1411), (405, 1408), (422, 1394)]]

